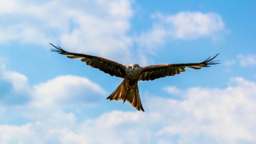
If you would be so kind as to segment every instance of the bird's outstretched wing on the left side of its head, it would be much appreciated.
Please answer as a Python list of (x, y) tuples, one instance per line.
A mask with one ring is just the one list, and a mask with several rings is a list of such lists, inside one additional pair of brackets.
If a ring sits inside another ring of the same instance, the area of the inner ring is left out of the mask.
[[(53, 44), (51, 45), (54, 46)], [(118, 62), (108, 60), (106, 58), (102, 58), (99, 56), (90, 56), (87, 54), (77, 54), (73, 52), (67, 52), (62, 48), (60, 48), (59, 46), (58, 47), (54, 46), (54, 49), (51, 49), (51, 51), (58, 52), (59, 54), (64, 54), (68, 58), (80, 58), (82, 62), (86, 62), (87, 65), (93, 68), (97, 68), (107, 74), (110, 74), (111, 76), (124, 78), (125, 66), (122, 64), (119, 64)]]

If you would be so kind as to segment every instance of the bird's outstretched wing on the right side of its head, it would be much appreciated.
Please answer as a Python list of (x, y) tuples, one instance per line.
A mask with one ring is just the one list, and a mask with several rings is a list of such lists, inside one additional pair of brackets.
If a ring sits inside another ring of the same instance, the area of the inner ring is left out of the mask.
[[(218, 56), (218, 54), (216, 54)], [(219, 64), (218, 61), (212, 61), (214, 58), (206, 59), (200, 63), (187, 63), (187, 64), (159, 64), (152, 66), (142, 67), (142, 74), (139, 80), (148, 81), (155, 80), (157, 78), (164, 78), (166, 76), (174, 76), (175, 74), (180, 74), (180, 72), (185, 72), (185, 68), (201, 69), (202, 67), (209, 67), (209, 65)]]

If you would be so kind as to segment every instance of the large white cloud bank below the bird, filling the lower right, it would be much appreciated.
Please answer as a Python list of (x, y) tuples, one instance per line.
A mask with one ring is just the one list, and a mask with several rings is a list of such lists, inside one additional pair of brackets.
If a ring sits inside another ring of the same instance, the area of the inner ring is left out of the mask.
[[(189, 88), (182, 94), (183, 101), (147, 98), (145, 113), (103, 114), (86, 120), (82, 129), (88, 129), (82, 133), (93, 135), (94, 139), (88, 138), (92, 143), (102, 143), (100, 138), (106, 143), (155, 143), (177, 135), (180, 143), (207, 143), (207, 138), (216, 143), (255, 142), (256, 84), (243, 78), (231, 81), (234, 86), (226, 89)], [(129, 140), (122, 140), (127, 136)], [(206, 142), (200, 142), (201, 137)]]

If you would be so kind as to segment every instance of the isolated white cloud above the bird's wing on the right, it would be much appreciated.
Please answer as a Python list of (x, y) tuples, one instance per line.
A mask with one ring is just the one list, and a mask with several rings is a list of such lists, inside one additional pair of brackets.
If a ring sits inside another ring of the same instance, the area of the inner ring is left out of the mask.
[[(161, 18), (162, 16), (160, 16)], [(164, 20), (173, 26), (173, 35), (180, 39), (194, 39), (200, 36), (211, 36), (224, 28), (219, 14), (201, 12), (180, 12)]]

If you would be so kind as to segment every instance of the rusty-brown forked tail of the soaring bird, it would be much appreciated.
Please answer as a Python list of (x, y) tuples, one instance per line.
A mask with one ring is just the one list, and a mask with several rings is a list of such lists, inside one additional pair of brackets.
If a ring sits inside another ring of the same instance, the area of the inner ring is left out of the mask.
[(129, 86), (128, 88), (125, 87), (125, 81), (123, 80), (121, 84), (116, 88), (116, 90), (110, 96), (108, 96), (107, 99), (116, 101), (122, 100), (123, 102), (127, 101), (137, 110), (142, 110), (144, 112), (140, 101), (138, 86), (135, 86), (133, 89), (130, 90), (128, 89)]

